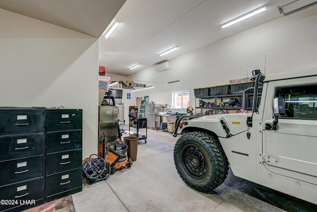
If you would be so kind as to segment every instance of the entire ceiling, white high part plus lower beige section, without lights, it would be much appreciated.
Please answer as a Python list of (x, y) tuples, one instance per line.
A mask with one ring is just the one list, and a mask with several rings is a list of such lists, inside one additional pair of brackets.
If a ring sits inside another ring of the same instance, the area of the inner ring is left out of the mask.
[[(171, 60), (282, 18), (277, 6), (292, 1), (294, 0), (0, 0), (0, 7), (100, 37), (100, 65), (106, 67), (107, 73), (127, 76), (151, 68), (160, 61)], [(221, 24), (265, 4), (266, 11), (225, 29), (220, 27)], [(105, 39), (102, 33), (112, 19), (120, 21), (120, 25)], [(159, 56), (159, 53), (173, 46), (178, 46), (178, 50)], [(130, 71), (128, 68), (135, 64), (140, 67)]]

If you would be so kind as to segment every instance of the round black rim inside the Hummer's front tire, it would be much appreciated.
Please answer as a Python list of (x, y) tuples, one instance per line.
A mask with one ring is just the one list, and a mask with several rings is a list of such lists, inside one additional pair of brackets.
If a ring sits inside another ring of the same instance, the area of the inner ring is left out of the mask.
[(185, 169), (195, 177), (203, 176), (207, 171), (207, 160), (204, 153), (194, 145), (186, 146), (182, 152)]

